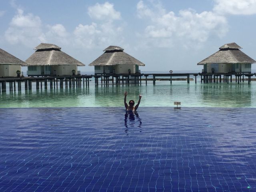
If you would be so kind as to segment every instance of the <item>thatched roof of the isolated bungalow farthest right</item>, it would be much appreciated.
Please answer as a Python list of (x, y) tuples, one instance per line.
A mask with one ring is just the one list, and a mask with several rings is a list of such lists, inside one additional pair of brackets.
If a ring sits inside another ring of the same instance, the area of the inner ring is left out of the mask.
[(236, 43), (229, 43), (221, 46), (216, 53), (200, 61), (198, 65), (212, 63), (256, 63), (255, 60), (244, 54)]

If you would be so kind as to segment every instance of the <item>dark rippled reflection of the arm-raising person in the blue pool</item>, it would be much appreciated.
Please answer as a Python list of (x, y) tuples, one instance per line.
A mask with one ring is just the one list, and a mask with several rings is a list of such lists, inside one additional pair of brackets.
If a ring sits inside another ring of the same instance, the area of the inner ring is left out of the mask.
[(124, 126), (126, 127), (125, 132), (129, 133), (129, 128), (140, 128), (141, 132), (142, 119), (136, 111), (126, 111), (124, 114)]

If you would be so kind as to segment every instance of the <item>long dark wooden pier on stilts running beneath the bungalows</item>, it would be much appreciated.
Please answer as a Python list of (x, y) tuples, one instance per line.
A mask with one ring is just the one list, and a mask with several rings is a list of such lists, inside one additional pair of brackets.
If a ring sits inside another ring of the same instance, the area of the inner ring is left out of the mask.
[[(148, 76), (152, 76), (148, 79)], [(77, 76), (42, 76), (42, 77), (23, 77), (23, 78), (0, 78), (0, 92), (6, 92), (6, 84), (9, 84), (9, 91), (21, 91), (22, 82), (24, 82), (25, 90), (32, 90), (32, 82), (35, 82), (36, 90), (39, 89), (58, 89), (58, 88), (81, 88), (89, 87), (91, 78), (94, 78), (94, 85), (99, 84), (109, 85), (112, 82), (114, 84), (141, 84), (142, 80), (147, 82), (152, 80), (153, 84), (156, 84), (156, 80), (160, 77), (164, 77), (162, 80), (172, 81), (173, 77), (184, 77), (187, 83), (190, 83), (190, 76), (194, 76), (195, 83), (197, 83), (197, 76), (200, 76), (201, 83), (231, 83), (233, 77), (237, 84), (248, 81), (251, 82), (251, 77), (256, 74), (251, 73), (228, 73), (228, 74), (206, 74), (206, 73), (172, 73), (172, 74), (96, 74), (96, 75), (77, 75)], [(144, 78), (142, 78), (144, 77)], [(246, 78), (245, 78), (246, 77)], [(48, 84), (48, 82), (50, 82)], [(115, 82), (115, 83), (114, 83)]]

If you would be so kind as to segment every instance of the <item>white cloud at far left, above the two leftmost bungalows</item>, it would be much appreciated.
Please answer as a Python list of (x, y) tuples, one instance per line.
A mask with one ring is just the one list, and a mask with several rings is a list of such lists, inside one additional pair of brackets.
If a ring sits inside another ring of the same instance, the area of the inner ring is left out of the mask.
[(23, 10), (12, 18), (9, 28), (5, 32), (5, 38), (11, 44), (22, 43), (27, 46), (44, 41), (42, 22), (33, 14), (24, 15)]

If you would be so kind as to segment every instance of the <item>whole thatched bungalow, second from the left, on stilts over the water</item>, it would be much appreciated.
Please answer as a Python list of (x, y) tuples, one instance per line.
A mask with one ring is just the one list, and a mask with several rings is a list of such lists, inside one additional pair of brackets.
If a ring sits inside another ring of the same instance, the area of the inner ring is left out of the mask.
[(59, 46), (41, 43), (27, 60), (28, 76), (39, 75), (75, 75), (82, 62), (62, 52)]

